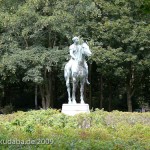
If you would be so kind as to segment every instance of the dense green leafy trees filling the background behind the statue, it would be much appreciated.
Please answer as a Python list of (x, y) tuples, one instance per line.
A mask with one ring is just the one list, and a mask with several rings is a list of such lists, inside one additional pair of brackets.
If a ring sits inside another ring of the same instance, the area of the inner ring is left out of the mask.
[(2, 103), (12, 87), (28, 97), (38, 90), (43, 108), (65, 102), (63, 67), (75, 35), (93, 53), (85, 91), (91, 108), (133, 111), (150, 103), (148, 6), (146, 0), (0, 0)]

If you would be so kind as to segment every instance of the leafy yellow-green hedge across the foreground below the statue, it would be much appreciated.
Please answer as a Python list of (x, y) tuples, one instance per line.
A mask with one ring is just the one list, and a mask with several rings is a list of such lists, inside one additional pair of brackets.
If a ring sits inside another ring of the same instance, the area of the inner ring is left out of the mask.
[[(41, 144), (24, 144), (30, 139)], [(10, 140), (22, 144), (1, 144)], [(11, 150), (149, 150), (150, 113), (19, 111), (0, 115), (0, 141), (0, 149)]]

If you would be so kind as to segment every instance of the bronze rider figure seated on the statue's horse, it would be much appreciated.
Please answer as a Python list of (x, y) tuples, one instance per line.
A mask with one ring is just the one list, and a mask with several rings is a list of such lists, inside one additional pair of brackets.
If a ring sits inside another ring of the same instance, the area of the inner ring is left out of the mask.
[[(74, 37), (72, 39), (72, 41), (73, 41), (73, 44), (69, 47), (70, 56), (71, 56), (70, 61), (71, 62), (76, 61), (78, 59), (79, 51), (82, 48), (82, 45), (79, 44), (79, 38), (78, 37)], [(70, 63), (70, 64), (72, 64), (72, 63)], [(84, 61), (84, 67), (86, 69), (86, 83), (90, 84), (88, 81), (88, 65), (87, 65), (86, 61)]]

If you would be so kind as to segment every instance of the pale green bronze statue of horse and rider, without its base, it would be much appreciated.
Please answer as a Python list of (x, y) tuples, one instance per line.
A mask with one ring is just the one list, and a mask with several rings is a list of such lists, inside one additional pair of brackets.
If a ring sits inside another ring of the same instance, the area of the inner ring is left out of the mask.
[[(86, 56), (91, 56), (91, 51), (86, 42), (79, 44), (79, 37), (74, 37), (73, 44), (69, 47), (71, 59), (67, 62), (64, 69), (66, 80), (68, 103), (76, 104), (76, 87), (80, 82), (80, 103), (84, 104), (84, 84), (90, 84), (88, 81), (88, 65)], [(73, 89), (71, 97), (70, 79), (72, 79)]]

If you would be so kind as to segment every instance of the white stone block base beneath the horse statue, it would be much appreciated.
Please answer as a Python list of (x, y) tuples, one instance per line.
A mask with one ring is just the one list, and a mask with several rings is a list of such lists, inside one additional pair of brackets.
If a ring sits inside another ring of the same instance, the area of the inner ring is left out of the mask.
[(61, 112), (69, 116), (79, 113), (90, 113), (89, 104), (63, 104)]

